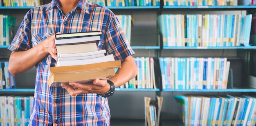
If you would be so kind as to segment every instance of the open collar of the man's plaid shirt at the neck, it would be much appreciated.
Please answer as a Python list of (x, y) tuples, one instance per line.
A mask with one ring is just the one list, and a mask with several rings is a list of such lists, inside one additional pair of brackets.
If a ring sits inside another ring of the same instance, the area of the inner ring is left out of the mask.
[[(52, 0), (52, 2), (47, 5), (46, 10), (53, 9), (55, 6), (60, 8), (58, 0)], [(89, 13), (89, 6), (92, 6), (92, 3), (88, 0), (80, 0), (76, 7), (79, 7), (81, 10), (85, 11), (85, 13)]]

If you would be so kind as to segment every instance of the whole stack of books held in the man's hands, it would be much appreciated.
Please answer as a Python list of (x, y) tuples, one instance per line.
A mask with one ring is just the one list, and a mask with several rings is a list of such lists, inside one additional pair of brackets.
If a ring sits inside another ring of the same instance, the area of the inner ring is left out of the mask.
[(50, 67), (49, 86), (114, 76), (121, 61), (115, 61), (113, 54), (105, 55), (106, 50), (98, 50), (101, 35), (101, 31), (56, 34), (58, 61), (55, 67)]

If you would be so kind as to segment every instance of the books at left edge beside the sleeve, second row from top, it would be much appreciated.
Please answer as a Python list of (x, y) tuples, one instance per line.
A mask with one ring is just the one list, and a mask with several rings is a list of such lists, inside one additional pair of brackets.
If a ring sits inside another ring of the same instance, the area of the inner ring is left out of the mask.
[(0, 46), (10, 45), (15, 35), (16, 18), (0, 14)]

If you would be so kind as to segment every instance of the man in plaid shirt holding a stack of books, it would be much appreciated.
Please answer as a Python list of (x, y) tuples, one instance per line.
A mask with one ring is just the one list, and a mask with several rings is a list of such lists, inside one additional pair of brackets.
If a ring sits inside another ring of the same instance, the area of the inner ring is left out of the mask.
[[(121, 60), (121, 68), (109, 80), (48, 87), (49, 67), (55, 66), (55, 33), (101, 30), (98, 49)], [(9, 71), (14, 76), (36, 66), (34, 102), (30, 126), (110, 125), (107, 98), (115, 87), (137, 74), (137, 67), (124, 31), (112, 11), (88, 0), (52, 0), (27, 12), (9, 50)], [(113, 85), (112, 85), (113, 86)], [(103, 94), (97, 96), (97, 94)], [(106, 95), (107, 94), (107, 95)]]

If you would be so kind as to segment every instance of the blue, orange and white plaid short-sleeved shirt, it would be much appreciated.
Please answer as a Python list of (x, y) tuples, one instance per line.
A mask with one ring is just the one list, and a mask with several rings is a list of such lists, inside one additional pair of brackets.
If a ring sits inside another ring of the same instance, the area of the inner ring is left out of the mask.
[[(98, 49), (106, 49), (116, 60), (123, 60), (134, 54), (124, 31), (112, 11), (80, 0), (77, 7), (65, 15), (57, 0), (34, 7), (25, 15), (9, 50), (25, 51), (53, 33), (74, 33), (101, 30)], [(34, 102), (29, 126), (108, 126), (110, 109), (108, 99), (95, 93), (80, 94), (77, 97), (62, 87), (49, 87), (49, 67), (56, 61), (48, 54), (36, 65)]]

